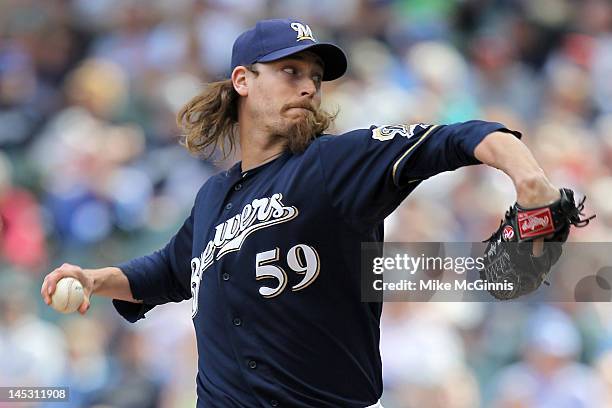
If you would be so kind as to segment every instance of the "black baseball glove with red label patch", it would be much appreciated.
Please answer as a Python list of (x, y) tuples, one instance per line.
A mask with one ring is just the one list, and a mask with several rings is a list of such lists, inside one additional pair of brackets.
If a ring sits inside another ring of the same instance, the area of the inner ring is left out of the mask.
[[(483, 241), (488, 245), (480, 278), (500, 284), (487, 285), (496, 299), (515, 299), (535, 291), (542, 282), (548, 285), (546, 276), (561, 256), (561, 245), (567, 240), (570, 226), (584, 227), (595, 218), (581, 218), (586, 196), (576, 205), (572, 190), (559, 191), (561, 198), (544, 207), (522, 208), (515, 203), (506, 211), (499, 228)], [(544, 248), (536, 257), (533, 240), (541, 237), (545, 237)], [(506, 289), (497, 289), (500, 287)]]

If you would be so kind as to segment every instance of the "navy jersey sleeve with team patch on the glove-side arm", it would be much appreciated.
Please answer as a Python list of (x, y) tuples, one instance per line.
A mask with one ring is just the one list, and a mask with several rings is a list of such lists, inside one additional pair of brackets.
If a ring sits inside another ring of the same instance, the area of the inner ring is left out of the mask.
[(387, 217), (423, 180), (480, 164), (474, 149), (488, 134), (520, 132), (501, 123), (372, 126), (323, 138), (319, 157), (332, 206), (359, 230)]

